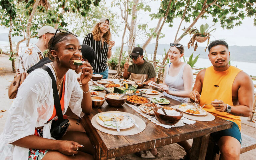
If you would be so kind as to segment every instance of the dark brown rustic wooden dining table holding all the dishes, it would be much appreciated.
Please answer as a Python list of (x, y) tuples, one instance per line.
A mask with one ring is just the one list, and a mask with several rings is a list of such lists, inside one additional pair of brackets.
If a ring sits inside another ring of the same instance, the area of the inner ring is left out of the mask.
[[(180, 104), (176, 100), (166, 98), (171, 103), (165, 106)], [(116, 136), (101, 132), (92, 126), (91, 119), (97, 113), (106, 111), (121, 111), (134, 114), (144, 120), (146, 129), (139, 134), (131, 136)], [(120, 108), (114, 108), (109, 106), (107, 102), (101, 108), (93, 108), (91, 114), (84, 115), (81, 122), (94, 146), (96, 159), (110, 159), (194, 138), (190, 159), (204, 160), (210, 133), (232, 127), (231, 122), (216, 117), (214, 121), (197, 121), (195, 124), (166, 129), (152, 123), (126, 104), (123, 104)]]

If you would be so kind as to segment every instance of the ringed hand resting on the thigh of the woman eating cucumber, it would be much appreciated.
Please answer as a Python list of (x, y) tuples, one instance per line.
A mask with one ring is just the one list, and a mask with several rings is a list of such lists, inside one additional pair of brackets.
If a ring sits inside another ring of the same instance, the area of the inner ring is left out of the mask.
[(78, 153), (79, 147), (83, 147), (83, 145), (75, 142), (75, 141), (60, 141), (57, 149), (59, 152), (65, 155), (73, 155)]

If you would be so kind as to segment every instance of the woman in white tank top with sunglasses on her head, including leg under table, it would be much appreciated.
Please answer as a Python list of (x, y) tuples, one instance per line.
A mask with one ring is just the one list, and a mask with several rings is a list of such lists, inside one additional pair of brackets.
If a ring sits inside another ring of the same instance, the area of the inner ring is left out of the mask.
[[(160, 87), (160, 90), (164, 91), (164, 95), (187, 103), (190, 92), (192, 91), (193, 84), (193, 72), (189, 64), (180, 61), (180, 58), (184, 55), (184, 46), (182, 44), (170, 44), (171, 48), (168, 53), (170, 63), (166, 65), (164, 72), (164, 81), (162, 84), (156, 84), (151, 82), (155, 86)], [(187, 141), (179, 142), (187, 155), (184, 159), (189, 158), (191, 153), (191, 145)]]

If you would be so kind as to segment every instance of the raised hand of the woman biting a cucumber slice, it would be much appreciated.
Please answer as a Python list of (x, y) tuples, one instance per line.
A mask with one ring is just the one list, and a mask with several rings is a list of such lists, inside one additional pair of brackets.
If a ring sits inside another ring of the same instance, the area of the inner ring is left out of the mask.
[(83, 67), (81, 67), (82, 73), (80, 76), (82, 85), (88, 84), (90, 79), (92, 78), (92, 66), (89, 62), (83, 62)]

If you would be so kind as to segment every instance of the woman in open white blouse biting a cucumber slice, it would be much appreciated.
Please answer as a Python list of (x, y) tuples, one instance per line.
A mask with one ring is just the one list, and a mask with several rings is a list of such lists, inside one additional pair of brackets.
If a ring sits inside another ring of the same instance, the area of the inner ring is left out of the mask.
[[(88, 82), (92, 77), (92, 67), (88, 62), (83, 62), (82, 89), (72, 72), (78, 69), (73, 64), (74, 60), (82, 58), (79, 40), (70, 32), (58, 33), (50, 39), (48, 48), (53, 63), (47, 66), (56, 79), (60, 102), (63, 102), (62, 113), (68, 107), (78, 117), (90, 113), (92, 101)], [(53, 113), (52, 80), (45, 70), (35, 69), (19, 87), (17, 97), (9, 109), (0, 136), (0, 159), (93, 159), (94, 150), (88, 136), (85, 132), (78, 132), (81, 131), (81, 125), (76, 124), (79, 121), (70, 120), (71, 125), (62, 138), (55, 140), (51, 137), (52, 120), (47, 121), (51, 117), (57, 118)]]

